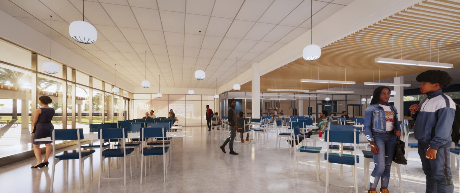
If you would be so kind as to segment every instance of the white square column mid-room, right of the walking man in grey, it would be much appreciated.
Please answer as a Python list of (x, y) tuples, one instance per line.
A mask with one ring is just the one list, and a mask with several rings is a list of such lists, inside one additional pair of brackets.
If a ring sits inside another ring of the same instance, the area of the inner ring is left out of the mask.
[(260, 75), (259, 62), (254, 62), (252, 70), (252, 118), (260, 118)]

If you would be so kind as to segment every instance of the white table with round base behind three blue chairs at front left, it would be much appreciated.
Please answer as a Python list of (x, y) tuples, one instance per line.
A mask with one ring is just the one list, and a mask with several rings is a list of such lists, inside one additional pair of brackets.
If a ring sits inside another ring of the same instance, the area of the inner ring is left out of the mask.
[[(166, 137), (184, 137), (184, 132), (168, 131), (166, 132)], [(127, 139), (137, 139), (139, 138), (139, 133), (129, 132), (126, 138)], [(98, 134), (83, 133), (83, 140), (98, 140)], [(45, 137), (45, 138), (36, 139), (35, 141), (46, 142), (46, 141), (52, 141), (52, 140), (51, 140), (51, 137)], [(123, 157), (121, 157), (121, 159), (122, 159), (121, 162), (123, 162)], [(126, 170), (128, 170), (128, 168)], [(138, 175), (140, 173), (141, 173), (140, 168), (132, 168), (132, 176)], [(110, 177), (108, 177), (109, 176), (108, 172), (102, 173), (101, 177), (104, 179), (108, 179), (108, 180), (118, 180), (118, 179), (123, 179), (124, 177), (123, 175), (127, 175), (126, 176), (127, 178), (130, 177), (130, 175), (128, 175), (128, 172), (124, 172), (123, 167), (121, 167), (121, 170), (111, 170)]]

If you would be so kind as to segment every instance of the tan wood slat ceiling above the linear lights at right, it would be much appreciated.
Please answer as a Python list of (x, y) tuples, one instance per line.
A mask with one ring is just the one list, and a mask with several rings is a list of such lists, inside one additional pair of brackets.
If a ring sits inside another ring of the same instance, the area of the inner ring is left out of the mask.
[[(439, 62), (453, 63), (454, 67), (459, 67), (459, 10), (458, 1), (422, 1), (323, 47), (321, 57), (316, 61), (299, 58), (262, 75), (260, 91), (266, 92), (268, 88), (280, 88), (280, 85), (283, 89), (302, 88), (310, 91), (342, 86), (340, 84), (301, 83), (300, 79), (347, 80), (356, 81), (358, 84), (401, 75), (418, 74), (429, 69), (441, 69), (375, 63), (376, 57), (431, 62), (439, 60)], [(242, 85), (240, 91), (250, 92), (251, 82)]]

